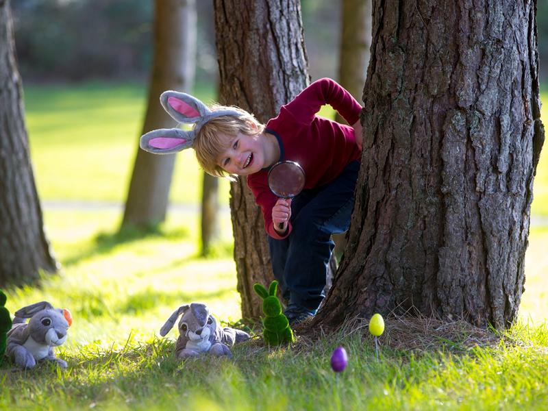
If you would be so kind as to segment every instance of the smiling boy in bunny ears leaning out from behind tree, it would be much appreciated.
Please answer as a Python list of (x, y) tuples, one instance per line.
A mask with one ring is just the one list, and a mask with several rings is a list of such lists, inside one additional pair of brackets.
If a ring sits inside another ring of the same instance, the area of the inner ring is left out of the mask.
[[(195, 129), (155, 130), (142, 136), (141, 147), (153, 153), (192, 147), (207, 173), (247, 177), (264, 215), (274, 275), (289, 301), (284, 314), (292, 325), (313, 316), (324, 297), (334, 248), (331, 236), (350, 224), (360, 169), (362, 107), (326, 78), (282, 106), (266, 126), (238, 108), (209, 110), (184, 93), (166, 93), (164, 108), (179, 122), (197, 123)], [(352, 126), (316, 116), (324, 104)], [(306, 174), (303, 191), (292, 200), (279, 199), (269, 189), (269, 169), (282, 160), (299, 163)]]

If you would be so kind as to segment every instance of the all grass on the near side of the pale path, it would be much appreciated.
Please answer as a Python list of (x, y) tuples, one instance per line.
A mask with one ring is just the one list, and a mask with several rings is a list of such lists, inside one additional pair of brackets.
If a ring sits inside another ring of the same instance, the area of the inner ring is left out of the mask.
[[(148, 235), (116, 234), (116, 210), (48, 210), (45, 218), (62, 273), (45, 277), (40, 288), (7, 290), (7, 306), (13, 312), (46, 299), (69, 308), (74, 323), (58, 355), (70, 367), (60, 371), (42, 364), (22, 372), (3, 364), (0, 409), (264, 410), (266, 403), (272, 410), (548, 406), (548, 329), (542, 322), (548, 257), (540, 246), (548, 240), (548, 229), (532, 232), (531, 242), (538, 247), (530, 248), (527, 259), (539, 268), (527, 274), (527, 282), (534, 292), (525, 292), (523, 320), (499, 346), (460, 352), (458, 340), (444, 340), (439, 351), (401, 351), (384, 346), (383, 336), (377, 362), (371, 337), (343, 331), (308, 348), (266, 349), (252, 340), (234, 347), (233, 360), (205, 357), (180, 363), (173, 356), (176, 331), (160, 338), (158, 330), (181, 303), (205, 301), (223, 322), (240, 318), (230, 247), (221, 247), (214, 260), (199, 258), (195, 219), (186, 212), (171, 213)], [(229, 242), (228, 216), (222, 224), (221, 245)], [(337, 379), (329, 356), (338, 345), (347, 349), (350, 362)]]

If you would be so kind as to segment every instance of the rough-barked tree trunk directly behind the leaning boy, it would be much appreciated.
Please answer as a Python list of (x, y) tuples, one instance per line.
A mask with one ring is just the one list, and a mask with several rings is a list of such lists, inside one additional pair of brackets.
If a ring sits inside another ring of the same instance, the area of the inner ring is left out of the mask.
[[(299, 1), (214, 0), (221, 103), (266, 122), (308, 85)], [(258, 318), (253, 283), (273, 279), (260, 208), (245, 179), (232, 183), (230, 208), (242, 316)]]

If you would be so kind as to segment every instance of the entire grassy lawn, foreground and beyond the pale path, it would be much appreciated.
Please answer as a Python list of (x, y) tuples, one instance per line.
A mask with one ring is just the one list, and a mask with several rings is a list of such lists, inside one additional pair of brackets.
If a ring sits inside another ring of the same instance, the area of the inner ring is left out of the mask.
[[(208, 88), (197, 94), (206, 101), (212, 96)], [(27, 88), (42, 200), (124, 200), (144, 96), (138, 85)], [(533, 212), (548, 216), (546, 158)], [(179, 154), (172, 201), (195, 205), (199, 175), (192, 152)], [(227, 203), (226, 182), (222, 190)], [(116, 208), (45, 208), (62, 270), (40, 288), (5, 290), (7, 307), (14, 312), (47, 300), (71, 310), (69, 338), (57, 350), (69, 369), (41, 364), (22, 372), (1, 365), (0, 410), (548, 408), (548, 227), (531, 229), (520, 321), (500, 339), (489, 334), (490, 344), (475, 344), (463, 330), (436, 336), (427, 349), (402, 349), (394, 341), (406, 335), (398, 334), (397, 319), (387, 319), (379, 362), (366, 329), (353, 327), (313, 344), (299, 337), (292, 349), (268, 349), (253, 338), (232, 349), (232, 360), (180, 363), (173, 356), (177, 331), (167, 338), (158, 332), (182, 303), (204, 301), (223, 323), (240, 319), (229, 216), (221, 218), (221, 240), (210, 259), (197, 256), (195, 212), (173, 211), (147, 235), (117, 234), (120, 219)], [(329, 357), (338, 345), (347, 349), (349, 366), (336, 377)]]

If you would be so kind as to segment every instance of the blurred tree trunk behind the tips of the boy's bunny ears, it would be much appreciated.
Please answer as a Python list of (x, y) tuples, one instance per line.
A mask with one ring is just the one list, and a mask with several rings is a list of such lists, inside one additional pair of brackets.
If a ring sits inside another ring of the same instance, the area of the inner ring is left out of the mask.
[[(174, 126), (159, 98), (165, 90), (190, 92), (195, 74), (196, 32), (195, 0), (155, 1), (153, 70), (142, 134)], [(173, 154), (154, 155), (137, 149), (123, 225), (146, 227), (164, 221), (174, 165)]]

